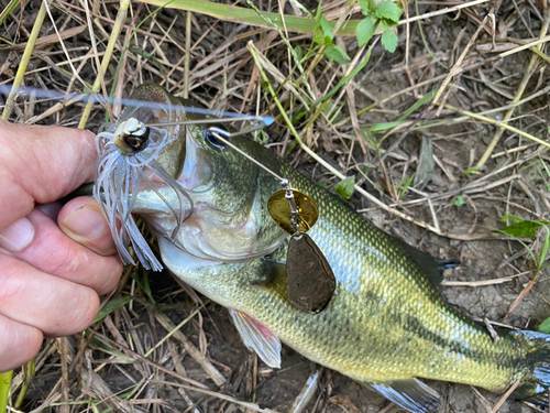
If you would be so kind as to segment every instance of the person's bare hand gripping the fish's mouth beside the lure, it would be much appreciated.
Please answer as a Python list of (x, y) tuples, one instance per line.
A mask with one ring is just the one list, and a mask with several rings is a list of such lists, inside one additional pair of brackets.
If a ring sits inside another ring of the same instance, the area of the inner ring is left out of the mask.
[(0, 121), (0, 143), (4, 372), (32, 359), (44, 335), (87, 328), (99, 311), (99, 295), (117, 285), (122, 263), (94, 198), (75, 198), (61, 210), (50, 204), (94, 178), (92, 133)]

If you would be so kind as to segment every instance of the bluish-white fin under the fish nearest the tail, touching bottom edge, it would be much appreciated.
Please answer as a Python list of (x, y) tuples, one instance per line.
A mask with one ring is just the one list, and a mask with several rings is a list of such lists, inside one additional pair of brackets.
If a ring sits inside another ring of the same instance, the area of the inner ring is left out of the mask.
[(409, 412), (427, 413), (439, 406), (438, 392), (417, 379), (393, 380), (365, 385)]

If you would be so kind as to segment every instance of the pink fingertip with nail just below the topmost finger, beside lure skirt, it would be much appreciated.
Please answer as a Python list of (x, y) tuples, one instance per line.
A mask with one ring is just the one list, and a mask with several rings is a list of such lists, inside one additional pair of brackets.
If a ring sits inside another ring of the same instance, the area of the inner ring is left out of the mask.
[(112, 256), (117, 247), (101, 206), (87, 196), (72, 199), (59, 211), (57, 225), (65, 235), (100, 256)]

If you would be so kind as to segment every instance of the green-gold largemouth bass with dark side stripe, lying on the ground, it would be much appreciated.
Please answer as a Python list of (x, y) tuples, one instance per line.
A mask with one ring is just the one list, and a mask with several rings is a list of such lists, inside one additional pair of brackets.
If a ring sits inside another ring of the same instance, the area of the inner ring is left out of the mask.
[[(216, 123), (212, 117), (174, 107), (195, 105), (157, 85), (140, 86), (132, 99), (169, 108), (152, 112), (130, 106), (119, 122), (136, 118)], [(249, 137), (231, 138), (228, 145), (208, 124), (160, 128), (174, 143), (157, 162), (186, 197), (153, 174), (154, 187), (134, 188), (132, 213), (153, 229), (164, 265), (227, 307), (246, 347), (267, 366), (280, 366), (284, 343), (409, 412), (430, 412), (441, 403), (422, 379), (496, 393), (519, 380), (513, 398), (548, 405), (549, 335), (503, 329), (494, 340), (485, 326), (441, 298), (435, 285), (440, 262), (376, 228)], [(318, 314), (297, 308), (288, 298), (289, 237), (266, 208), (279, 184), (233, 148), (317, 202), (319, 218), (308, 235), (337, 284)], [(174, 214), (174, 205), (190, 210), (189, 217)]]

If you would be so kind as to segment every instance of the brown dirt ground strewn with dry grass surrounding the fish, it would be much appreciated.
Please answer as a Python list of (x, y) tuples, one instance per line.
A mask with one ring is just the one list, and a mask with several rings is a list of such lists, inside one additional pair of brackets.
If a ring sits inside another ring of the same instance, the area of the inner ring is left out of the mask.
[[(441, 286), (449, 305), (470, 317), (501, 323), (535, 271), (525, 246), (491, 231), (506, 225), (503, 217), (507, 214), (530, 220), (549, 219), (548, 148), (505, 130), (479, 173), (466, 171), (479, 163), (497, 131), (491, 120), (502, 120), (514, 97), (529, 99), (515, 109), (508, 123), (548, 142), (548, 56), (547, 61), (539, 58), (534, 64), (532, 76), (526, 80), (525, 91), (518, 97), (534, 53), (525, 50), (498, 55), (547, 35), (541, 34), (544, 15), (541, 6), (546, 3), (530, 0), (487, 1), (444, 13), (446, 8), (465, 2), (407, 3), (410, 17), (421, 15), (421, 26), (410, 23), (407, 31), (405, 24), (399, 25), (399, 43), (393, 54), (383, 48), (377, 40), (380, 35), (375, 35), (377, 43), (372, 48), (370, 63), (348, 84), (348, 90), (342, 88), (331, 98), (331, 105), (338, 112), (330, 115), (324, 109), (326, 117), (317, 118), (311, 128), (307, 128), (304, 121), (297, 128), (306, 144), (321, 160), (345, 176), (355, 176), (361, 188), (425, 225), (400, 219), (355, 191), (349, 202), (360, 214), (433, 257), (460, 262), (457, 269), (446, 272), (443, 284), (463, 284)], [(4, 8), (8, 3), (0, 0), (0, 4)], [(84, 24), (86, 12), (82, 4), (79, 1), (54, 0), (53, 17), (61, 32)], [(245, 2), (237, 6), (249, 8)], [(256, 6), (262, 11), (278, 12), (280, 4), (271, 1), (266, 4), (264, 1), (256, 2)], [(317, 8), (316, 2), (305, 2), (304, 6), (310, 11)], [(25, 44), (38, 7), (36, 1), (25, 1), (22, 12), (18, 7), (0, 25), (0, 36), (15, 44)], [(92, 1), (90, 7), (96, 19), (92, 30), (103, 51), (112, 30), (110, 22), (117, 13), (117, 3)], [(153, 10), (154, 7), (133, 2), (131, 15), (145, 19)], [(297, 11), (292, 3), (284, 7), (287, 14)], [(360, 13), (348, 11), (341, 1), (323, 3), (323, 13), (329, 20), (338, 20), (342, 15), (361, 19)], [(497, 51), (485, 53), (483, 47), (491, 47), (493, 41), (491, 21), (481, 23), (495, 11)], [(441, 14), (433, 15), (433, 12)], [(127, 23), (130, 23), (130, 18)], [(100, 26), (103, 31), (98, 29)], [(475, 34), (480, 26), (481, 32)], [(268, 77), (287, 112), (297, 113), (297, 108), (302, 109), (296, 94), (285, 89), (274, 75), (280, 73), (283, 78), (289, 79), (289, 84), (298, 85), (299, 94), (307, 94), (304, 84), (298, 81), (298, 70), (294, 66), (289, 70), (288, 50), (276, 31), (263, 29), (254, 32), (257, 26), (194, 13), (190, 77), (185, 84), (182, 68), (185, 28), (185, 12), (176, 9), (165, 9), (141, 26), (131, 43), (134, 48), (128, 52), (128, 61), (123, 61), (125, 95), (141, 83), (162, 83), (168, 74), (174, 94), (183, 93), (186, 85), (190, 85), (190, 98), (211, 109), (252, 113), (257, 105), (261, 113), (278, 116), (268, 91), (254, 86), (261, 84), (261, 79), (257, 70), (253, 70), (253, 62), (246, 51), (246, 42), (253, 40), (275, 66)], [(123, 30), (119, 45), (129, 33), (131, 30)], [(55, 36), (48, 19), (41, 32), (41, 36), (46, 35)], [(311, 34), (289, 32), (288, 37), (293, 47), (300, 45), (307, 51), (311, 45)], [(470, 41), (472, 44), (469, 44)], [(64, 37), (73, 57), (88, 53), (89, 42), (88, 31), (70, 39)], [(352, 58), (356, 53), (366, 53), (360, 51), (353, 36), (336, 37), (334, 42)], [(78, 50), (85, 46), (88, 48)], [(466, 54), (461, 57), (466, 47)], [(62, 65), (66, 58), (58, 41), (41, 50), (45, 58), (34, 56), (31, 59), (24, 85), (37, 88), (48, 85), (52, 90), (81, 93), (84, 87), (78, 81), (69, 87), (70, 70), (68, 75), (59, 72), (68, 69), (68, 66)], [(147, 57), (145, 53), (153, 57)], [(21, 56), (21, 48), (0, 46), (2, 85), (13, 83)], [(121, 56), (121, 46), (118, 46), (114, 61), (106, 74), (109, 88), (116, 79), (117, 63)], [(306, 69), (311, 67), (312, 70), (307, 78), (308, 87), (322, 97), (337, 85), (349, 66), (340, 66), (323, 57), (312, 67), (312, 59), (304, 64)], [(6, 64), (2, 65), (2, 62)], [(58, 66), (53, 66), (54, 63)], [(75, 61), (75, 65), (78, 64)], [(424, 105), (399, 119), (422, 96), (436, 90), (451, 67), (457, 72), (450, 77), (450, 89), (441, 97), (447, 106), (430, 108)], [(94, 83), (96, 73), (90, 62), (82, 64), (79, 70), (86, 81)], [(4, 102), (6, 97), (0, 95), (0, 104)], [(84, 110), (81, 104), (53, 110), (44, 119), (34, 118), (57, 102), (58, 99), (34, 97), (29, 89), (16, 101), (10, 119), (76, 127)], [(373, 107), (367, 112), (354, 115), (371, 105)], [(498, 110), (491, 112), (491, 109)], [(484, 119), (471, 115), (482, 112), (485, 113)], [(96, 130), (103, 121), (103, 113), (101, 107), (96, 107), (87, 128)], [(352, 120), (345, 119), (349, 116)], [(364, 134), (364, 148), (356, 138), (355, 120)], [(397, 128), (382, 128), (383, 123), (394, 121), (400, 122)], [(286, 161), (315, 182), (329, 188), (336, 187), (340, 178), (307, 156), (299, 145), (288, 151), (293, 141), (288, 128), (279, 118), (266, 129), (266, 144), (277, 154), (283, 154)], [(422, 151), (422, 141), (431, 142), (431, 150)], [(411, 182), (406, 187), (404, 182), (414, 173), (420, 175), (420, 160), (426, 162), (427, 159), (433, 161), (427, 182)], [(426, 229), (426, 225), (439, 228), (441, 236)], [(541, 229), (537, 238), (524, 238), (524, 241), (539, 257), (544, 237), (546, 232)], [(94, 411), (97, 412), (248, 413), (257, 410), (257, 406), (264, 411), (289, 411), (318, 366), (284, 346), (282, 369), (268, 368), (246, 350), (223, 307), (182, 290), (167, 273), (144, 278), (143, 273), (131, 274), (131, 271), (127, 272), (121, 286), (111, 297), (128, 297), (128, 301), (91, 327), (96, 335), (87, 333), (67, 339), (50, 339), (44, 344), (36, 359), (36, 373), (30, 377), (24, 402), (13, 411), (68, 413), (96, 409)], [(495, 280), (503, 278), (510, 279), (496, 283)], [(495, 283), (475, 284), (482, 280)], [(535, 286), (503, 323), (536, 329), (549, 317), (548, 281), (548, 270), (543, 269)], [(474, 284), (466, 285), (472, 282)], [(204, 301), (204, 306), (197, 300)], [(187, 317), (190, 320), (180, 329), (183, 337), (174, 335), (163, 341), (145, 360), (139, 355), (153, 349), (167, 334), (158, 314), (172, 319), (174, 325)], [(223, 384), (212, 380), (212, 376), (217, 374), (215, 371), (223, 378)], [(21, 392), (24, 378), (21, 370), (15, 371), (12, 394)], [(212, 393), (189, 389), (196, 383), (189, 384), (182, 378), (204, 383)], [(499, 394), (468, 385), (444, 382), (429, 382), (429, 385), (441, 394), (441, 413), (487, 412), (501, 399)], [(223, 399), (222, 395), (232, 399)], [(254, 402), (256, 406), (246, 407), (234, 403), (235, 400)], [(345, 376), (324, 370), (305, 411), (395, 413), (399, 409)], [(498, 410), (502, 413), (534, 411), (537, 410), (512, 399)]]

